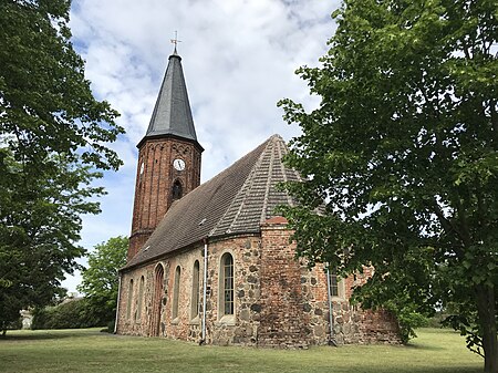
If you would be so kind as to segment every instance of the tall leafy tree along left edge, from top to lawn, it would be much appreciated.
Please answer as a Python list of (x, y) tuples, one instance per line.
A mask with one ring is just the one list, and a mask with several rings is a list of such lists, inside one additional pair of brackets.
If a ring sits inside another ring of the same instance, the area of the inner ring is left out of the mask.
[(0, 325), (61, 296), (84, 253), (91, 183), (122, 162), (106, 146), (123, 128), (93, 97), (68, 27), (71, 1), (0, 2)]

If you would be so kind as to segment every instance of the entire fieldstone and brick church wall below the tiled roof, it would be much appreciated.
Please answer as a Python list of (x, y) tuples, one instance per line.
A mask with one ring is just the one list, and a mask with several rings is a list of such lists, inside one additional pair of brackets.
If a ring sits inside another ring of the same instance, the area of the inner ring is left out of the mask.
[[(206, 343), (274, 348), (308, 348), (331, 339), (346, 343), (398, 343), (396, 320), (387, 312), (363, 311), (347, 299), (352, 288), (366, 281), (372, 268), (364, 268), (340, 282), (340, 297), (332, 299), (330, 325), (326, 273), (323, 266), (308, 269), (295, 260), (295, 244), (283, 218), (261, 227), (261, 235), (229, 236), (208, 242), (206, 297)], [(220, 309), (221, 257), (234, 258), (234, 315)], [(199, 313), (193, 311), (194, 263), (199, 261)], [(157, 266), (164, 269), (160, 305), (154, 303)], [(178, 313), (173, 313), (176, 268), (180, 268)], [(142, 301), (139, 282), (144, 277)], [(133, 279), (133, 293), (129, 281)], [(177, 251), (145, 267), (122, 273), (117, 333), (155, 335), (193, 342), (201, 340), (204, 245)], [(132, 296), (127, 315), (128, 298)], [(158, 308), (158, 309), (154, 309)], [(139, 311), (138, 311), (139, 309)], [(154, 317), (158, 314), (158, 318)], [(158, 324), (154, 324), (157, 320)]]

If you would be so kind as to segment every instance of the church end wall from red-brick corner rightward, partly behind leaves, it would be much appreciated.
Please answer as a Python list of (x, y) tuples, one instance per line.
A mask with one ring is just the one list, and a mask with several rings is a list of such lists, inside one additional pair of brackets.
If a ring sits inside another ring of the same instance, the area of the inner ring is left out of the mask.
[[(349, 299), (353, 288), (372, 276), (372, 268), (342, 279), (340, 296), (331, 299), (332, 328), (323, 265), (308, 269), (295, 260), (295, 244), (289, 244), (287, 220), (278, 217), (262, 225), (261, 327), (259, 344), (277, 348), (347, 343), (400, 343), (395, 318), (385, 311), (362, 310)], [(331, 333), (332, 329), (332, 333)]]

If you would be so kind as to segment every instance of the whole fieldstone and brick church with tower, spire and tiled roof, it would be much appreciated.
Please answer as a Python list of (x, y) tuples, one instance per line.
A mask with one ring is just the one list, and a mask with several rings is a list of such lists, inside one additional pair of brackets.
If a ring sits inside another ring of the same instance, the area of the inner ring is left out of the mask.
[(340, 279), (294, 258), (276, 214), (292, 200), (277, 185), (300, 177), (282, 164), (280, 136), (200, 185), (204, 149), (176, 49), (137, 147), (117, 333), (278, 348), (398, 342), (394, 318), (349, 302), (371, 269)]

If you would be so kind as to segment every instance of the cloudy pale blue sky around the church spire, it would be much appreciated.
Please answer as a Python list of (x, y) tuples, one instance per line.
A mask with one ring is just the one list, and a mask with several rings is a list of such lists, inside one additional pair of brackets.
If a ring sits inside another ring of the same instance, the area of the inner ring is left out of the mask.
[[(126, 134), (110, 145), (124, 165), (98, 180), (107, 191), (102, 213), (83, 216), (81, 245), (89, 251), (129, 236), (137, 163), (177, 32), (197, 139), (201, 183), (273, 134), (300, 134), (282, 120), (277, 102), (289, 97), (307, 110), (320, 100), (294, 74), (319, 66), (335, 31), (338, 0), (73, 0), (70, 27), (97, 100), (121, 113)], [(79, 261), (85, 266), (86, 260)], [(81, 274), (62, 283), (76, 291)]]

